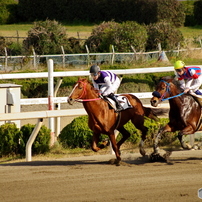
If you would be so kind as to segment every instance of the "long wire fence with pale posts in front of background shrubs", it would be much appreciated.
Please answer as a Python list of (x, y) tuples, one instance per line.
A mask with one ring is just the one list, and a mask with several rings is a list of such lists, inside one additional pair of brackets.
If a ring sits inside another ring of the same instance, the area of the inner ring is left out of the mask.
[[(116, 53), (112, 48), (109, 53), (90, 53), (86, 47), (86, 53), (81, 54), (65, 54), (61, 47), (62, 54), (57, 55), (37, 55), (33, 49), (33, 55), (29, 56), (8, 56), (5, 48), (5, 55), (0, 56), (0, 71), (14, 71), (22, 69), (37, 69), (38, 66), (47, 64), (49, 59), (54, 61), (54, 64), (61, 65), (63, 68), (82, 68), (91, 64), (133, 64), (137, 61), (159, 60), (162, 53), (169, 56), (177, 56), (180, 52), (200, 51), (201, 48), (192, 49), (177, 49), (172, 51), (162, 51), (159, 45), (159, 50), (152, 52), (133, 52)], [(166, 56), (167, 57), (167, 56)]]

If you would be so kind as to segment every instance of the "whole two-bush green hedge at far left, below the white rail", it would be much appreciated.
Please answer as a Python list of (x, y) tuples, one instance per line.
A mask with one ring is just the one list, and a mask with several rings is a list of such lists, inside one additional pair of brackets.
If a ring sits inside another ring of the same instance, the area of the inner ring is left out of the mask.
[[(27, 124), (17, 128), (16, 124), (6, 123), (0, 126), (0, 157), (25, 155), (26, 143), (35, 125)], [(32, 154), (49, 151), (50, 129), (42, 126), (32, 145)]]

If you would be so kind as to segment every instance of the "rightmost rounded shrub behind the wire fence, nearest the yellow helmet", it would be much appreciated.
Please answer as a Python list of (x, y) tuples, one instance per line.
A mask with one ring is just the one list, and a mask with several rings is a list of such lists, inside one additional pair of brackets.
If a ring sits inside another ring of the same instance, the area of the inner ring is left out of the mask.
[(171, 23), (162, 21), (147, 26), (148, 40), (147, 51), (157, 50), (158, 43), (161, 43), (163, 50), (175, 49), (178, 43), (183, 42), (183, 35), (180, 30)]

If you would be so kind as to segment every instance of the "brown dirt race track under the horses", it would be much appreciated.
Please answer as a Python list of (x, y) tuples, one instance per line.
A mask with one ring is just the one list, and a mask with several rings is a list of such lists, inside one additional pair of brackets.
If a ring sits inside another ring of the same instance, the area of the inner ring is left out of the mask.
[(0, 201), (202, 201), (202, 151), (176, 151), (171, 163), (151, 163), (139, 153), (33, 159), (0, 165)]

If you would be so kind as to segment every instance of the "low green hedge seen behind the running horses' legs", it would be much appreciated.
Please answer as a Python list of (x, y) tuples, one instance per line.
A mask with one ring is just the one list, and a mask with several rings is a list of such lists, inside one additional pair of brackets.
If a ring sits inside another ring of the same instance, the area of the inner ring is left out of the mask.
[[(168, 122), (167, 118), (162, 118), (158, 122), (148, 119), (145, 119), (145, 126), (148, 127), (147, 133), (147, 145), (152, 146), (152, 138), (156, 134), (161, 126), (166, 125)], [(129, 121), (125, 124), (126, 130), (129, 131), (131, 136), (126, 142), (133, 144), (139, 143), (141, 139), (141, 132), (134, 127), (134, 125)], [(88, 116), (81, 116), (75, 118), (70, 124), (63, 128), (59, 135), (59, 142), (64, 148), (86, 148), (91, 147), (92, 142), (92, 131), (88, 127)], [(170, 137), (170, 136), (169, 136)], [(172, 136), (173, 137), (173, 136)], [(106, 135), (101, 135), (100, 142), (108, 138)], [(117, 141), (121, 138), (121, 134), (118, 135)], [(172, 138), (165, 138), (163, 140), (164, 144), (170, 142)]]

